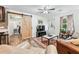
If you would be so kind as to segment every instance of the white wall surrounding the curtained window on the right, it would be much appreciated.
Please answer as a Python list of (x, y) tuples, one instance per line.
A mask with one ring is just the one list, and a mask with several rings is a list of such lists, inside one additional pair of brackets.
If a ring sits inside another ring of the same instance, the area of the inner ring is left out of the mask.
[(71, 15), (71, 14), (73, 14), (75, 32), (79, 33), (79, 10), (74, 10), (74, 11), (69, 11), (69, 12), (55, 15), (55, 21), (54, 21), (54, 25), (55, 25), (54, 32), (55, 33), (54, 34), (58, 35), (60, 32), (60, 17), (66, 16), (66, 15)]

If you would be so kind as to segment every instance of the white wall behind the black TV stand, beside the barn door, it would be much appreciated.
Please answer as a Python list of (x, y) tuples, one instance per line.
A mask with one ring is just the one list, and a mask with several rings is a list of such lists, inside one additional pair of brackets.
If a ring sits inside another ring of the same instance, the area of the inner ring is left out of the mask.
[(38, 25), (38, 20), (43, 21), (43, 25), (45, 25), (45, 30), (48, 30), (48, 19), (42, 16), (32, 15), (32, 36), (36, 37), (36, 27)]

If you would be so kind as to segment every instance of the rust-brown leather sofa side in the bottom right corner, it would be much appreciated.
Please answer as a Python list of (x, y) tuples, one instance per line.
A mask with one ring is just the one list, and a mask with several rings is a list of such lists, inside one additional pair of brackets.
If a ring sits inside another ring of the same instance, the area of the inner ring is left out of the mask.
[(60, 54), (79, 54), (79, 47), (64, 40), (57, 40), (57, 51)]

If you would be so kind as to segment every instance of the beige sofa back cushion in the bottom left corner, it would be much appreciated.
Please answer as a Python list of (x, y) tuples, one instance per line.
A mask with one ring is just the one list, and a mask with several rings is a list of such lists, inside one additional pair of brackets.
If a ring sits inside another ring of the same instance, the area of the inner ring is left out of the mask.
[(0, 45), (0, 54), (30, 54), (29, 49), (17, 48), (10, 45)]

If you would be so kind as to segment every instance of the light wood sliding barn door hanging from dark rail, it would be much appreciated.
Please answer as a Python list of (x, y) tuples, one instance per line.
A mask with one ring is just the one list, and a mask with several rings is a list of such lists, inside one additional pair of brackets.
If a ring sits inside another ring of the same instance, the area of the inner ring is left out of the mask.
[(22, 20), (22, 39), (26, 39), (32, 36), (32, 17), (31, 16), (23, 16)]

